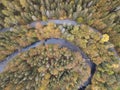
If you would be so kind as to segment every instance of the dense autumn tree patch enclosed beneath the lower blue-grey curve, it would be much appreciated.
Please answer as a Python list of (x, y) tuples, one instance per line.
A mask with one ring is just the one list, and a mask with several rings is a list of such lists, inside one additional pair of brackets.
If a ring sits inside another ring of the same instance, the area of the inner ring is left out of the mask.
[(42, 45), (15, 57), (0, 75), (1, 90), (76, 90), (90, 76), (79, 52)]

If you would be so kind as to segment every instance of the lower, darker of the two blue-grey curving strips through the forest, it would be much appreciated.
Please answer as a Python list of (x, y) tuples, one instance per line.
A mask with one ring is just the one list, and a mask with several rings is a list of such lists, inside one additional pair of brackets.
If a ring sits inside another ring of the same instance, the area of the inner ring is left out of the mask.
[(29, 45), (25, 48), (22, 48), (19, 51), (16, 51), (14, 53), (12, 53), (11, 55), (9, 55), (5, 60), (3, 60), (3, 62), (0, 63), (0, 72), (2, 72), (4, 70), (4, 67), (7, 65), (7, 63), (12, 60), (15, 56), (17, 56), (18, 54), (28, 51), (31, 48), (37, 47), (41, 44), (59, 44), (60, 47), (67, 47), (68, 49), (70, 49), (73, 52), (79, 52), (80, 55), (82, 55), (83, 60), (85, 60), (85, 62), (90, 66), (91, 68), (91, 74), (88, 77), (88, 79), (86, 80), (86, 82), (83, 83), (83, 85), (80, 85), (80, 88), (85, 88), (88, 84), (90, 84), (91, 82), (91, 78), (95, 72), (95, 64), (93, 62), (91, 62), (90, 58), (77, 46), (73, 45), (72, 43), (64, 40), (64, 39), (59, 39), (59, 38), (50, 38), (47, 39), (45, 41), (38, 41), (32, 45)]

